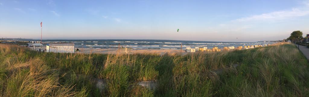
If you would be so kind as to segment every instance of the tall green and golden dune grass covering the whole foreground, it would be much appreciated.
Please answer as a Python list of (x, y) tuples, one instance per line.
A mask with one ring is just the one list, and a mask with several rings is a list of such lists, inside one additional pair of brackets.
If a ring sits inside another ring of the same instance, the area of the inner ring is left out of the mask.
[[(308, 65), (286, 43), (184, 56), (39, 53), (0, 44), (0, 96), (309, 96)], [(155, 90), (137, 85), (153, 80)]]

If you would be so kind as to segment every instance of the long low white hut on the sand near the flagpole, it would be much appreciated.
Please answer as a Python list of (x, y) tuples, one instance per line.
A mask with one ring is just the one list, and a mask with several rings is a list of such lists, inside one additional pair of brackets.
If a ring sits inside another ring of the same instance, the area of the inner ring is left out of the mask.
[(74, 49), (74, 43), (48, 43), (46, 45), (46, 52), (74, 53)]

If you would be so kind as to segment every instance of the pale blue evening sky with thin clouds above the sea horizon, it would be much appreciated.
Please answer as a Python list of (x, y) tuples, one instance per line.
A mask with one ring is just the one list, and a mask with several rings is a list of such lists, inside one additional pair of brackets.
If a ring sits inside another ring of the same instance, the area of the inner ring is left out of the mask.
[(0, 38), (40, 39), (40, 22), (43, 40), (283, 40), (309, 34), (309, 1), (0, 0)]

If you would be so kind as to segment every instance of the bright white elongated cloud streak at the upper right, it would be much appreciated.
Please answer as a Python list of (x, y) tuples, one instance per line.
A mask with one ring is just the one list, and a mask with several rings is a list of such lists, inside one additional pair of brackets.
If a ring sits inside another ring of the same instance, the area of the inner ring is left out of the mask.
[(307, 10), (306, 8), (301, 8), (301, 9), (302, 10), (300, 10), (299, 8), (293, 8), (292, 10), (289, 10), (289, 11), (275, 11), (275, 12), (265, 13), (261, 15), (253, 15), (250, 17), (244, 17), (244, 18), (236, 19), (234, 21), (245, 22), (245, 21), (270, 20), (270, 19), (278, 20), (278, 19), (290, 19), (294, 17), (309, 15), (309, 10)]

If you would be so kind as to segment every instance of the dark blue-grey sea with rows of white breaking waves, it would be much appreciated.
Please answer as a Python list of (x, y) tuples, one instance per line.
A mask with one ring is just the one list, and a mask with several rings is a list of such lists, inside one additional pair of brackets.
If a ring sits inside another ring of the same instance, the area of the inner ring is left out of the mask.
[[(30, 40), (40, 41), (40, 40)], [(186, 47), (228, 47), (259, 44), (273, 44), (274, 42), (214, 42), (214, 41), (184, 41), (184, 40), (43, 40), (43, 43), (74, 43), (75, 48), (117, 49), (129, 47), (133, 49), (182, 49)]]

